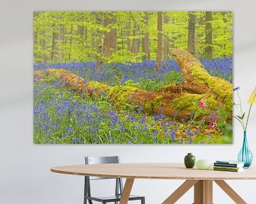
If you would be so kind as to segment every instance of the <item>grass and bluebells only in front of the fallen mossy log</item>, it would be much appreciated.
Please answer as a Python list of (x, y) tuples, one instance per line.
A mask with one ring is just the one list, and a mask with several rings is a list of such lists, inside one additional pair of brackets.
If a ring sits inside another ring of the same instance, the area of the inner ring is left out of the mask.
[[(203, 122), (147, 115), (129, 104), (78, 96), (58, 81), (34, 82), (36, 144), (221, 144), (223, 131)], [(232, 142), (232, 141), (231, 141)]]

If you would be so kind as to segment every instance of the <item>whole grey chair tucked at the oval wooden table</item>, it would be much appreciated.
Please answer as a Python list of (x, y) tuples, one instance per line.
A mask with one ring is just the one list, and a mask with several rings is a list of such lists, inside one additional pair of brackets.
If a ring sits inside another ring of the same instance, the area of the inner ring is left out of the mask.
[[(113, 157), (85, 157), (85, 164), (119, 164), (119, 156)], [(100, 202), (102, 204), (115, 203), (117, 204), (122, 196), (123, 183), (122, 179), (116, 179), (115, 184), (115, 195), (108, 197), (92, 196), (90, 191), (90, 180), (100, 179), (114, 179), (107, 177), (96, 177), (96, 176), (85, 176), (85, 191), (84, 191), (84, 204), (92, 204), (92, 200)], [(144, 196), (129, 196), (129, 200), (141, 200), (142, 204), (145, 204)]]

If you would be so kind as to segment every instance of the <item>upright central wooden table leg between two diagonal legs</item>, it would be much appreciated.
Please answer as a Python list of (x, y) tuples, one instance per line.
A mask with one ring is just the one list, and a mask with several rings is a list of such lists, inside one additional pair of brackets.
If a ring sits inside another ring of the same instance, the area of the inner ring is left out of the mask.
[(213, 181), (200, 180), (195, 184), (194, 204), (213, 204)]

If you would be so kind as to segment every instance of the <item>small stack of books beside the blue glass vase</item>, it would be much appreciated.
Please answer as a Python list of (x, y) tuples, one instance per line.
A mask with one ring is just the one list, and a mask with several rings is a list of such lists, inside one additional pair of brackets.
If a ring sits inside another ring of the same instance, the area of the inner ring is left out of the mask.
[(244, 162), (238, 161), (216, 161), (213, 164), (215, 171), (243, 171)]

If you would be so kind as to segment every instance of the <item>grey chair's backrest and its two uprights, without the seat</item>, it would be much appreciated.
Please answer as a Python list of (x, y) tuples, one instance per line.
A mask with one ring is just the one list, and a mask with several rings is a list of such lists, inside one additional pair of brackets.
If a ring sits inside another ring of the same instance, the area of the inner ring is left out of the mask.
[[(119, 156), (112, 157), (85, 157), (85, 164), (119, 164)], [(100, 180), (100, 179), (114, 179), (107, 177), (97, 177), (97, 176), (85, 176), (85, 195), (91, 196), (90, 193), (90, 180)], [(115, 185), (115, 195), (122, 195), (123, 183), (122, 179), (116, 179)]]

